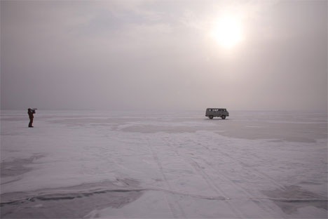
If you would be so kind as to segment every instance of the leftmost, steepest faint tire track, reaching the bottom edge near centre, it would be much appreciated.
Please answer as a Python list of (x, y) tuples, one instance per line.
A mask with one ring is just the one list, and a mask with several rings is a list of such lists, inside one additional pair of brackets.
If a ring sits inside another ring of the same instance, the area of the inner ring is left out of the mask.
[[(160, 175), (162, 175), (162, 178), (165, 182), (165, 187), (167, 188), (167, 190), (173, 191), (172, 186), (168, 182), (168, 178), (166, 177), (166, 175), (163, 171), (163, 166), (160, 163), (160, 160), (158, 159), (156, 152), (153, 150), (153, 147), (151, 147), (148, 138), (147, 138), (147, 143), (148, 143), (149, 150), (151, 151), (151, 154), (153, 155), (153, 159), (156, 161), (156, 164), (160, 171)], [(179, 202), (176, 199), (173, 199), (173, 201), (171, 201), (170, 197), (168, 197), (167, 193), (164, 193), (164, 196), (165, 196), (165, 200), (168, 203), (168, 206), (170, 208), (170, 211), (171, 211), (173, 217), (174, 218), (186, 218), (186, 213), (184, 213), (184, 209), (180, 206)]]

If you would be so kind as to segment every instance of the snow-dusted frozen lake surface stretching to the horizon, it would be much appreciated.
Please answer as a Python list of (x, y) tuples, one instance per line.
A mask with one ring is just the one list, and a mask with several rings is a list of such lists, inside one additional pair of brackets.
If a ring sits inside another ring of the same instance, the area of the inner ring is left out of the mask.
[(1, 218), (327, 218), (327, 114), (1, 111)]

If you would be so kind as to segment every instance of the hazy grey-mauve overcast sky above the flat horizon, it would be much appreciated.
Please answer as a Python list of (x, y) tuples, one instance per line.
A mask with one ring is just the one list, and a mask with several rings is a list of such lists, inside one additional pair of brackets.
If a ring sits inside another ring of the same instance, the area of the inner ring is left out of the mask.
[(327, 1), (0, 1), (1, 110), (327, 112)]

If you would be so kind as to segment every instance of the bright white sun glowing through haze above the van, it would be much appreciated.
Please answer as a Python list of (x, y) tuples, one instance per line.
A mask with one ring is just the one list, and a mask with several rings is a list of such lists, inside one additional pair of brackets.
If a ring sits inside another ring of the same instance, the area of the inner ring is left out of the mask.
[(232, 48), (244, 39), (242, 22), (238, 16), (224, 15), (214, 22), (212, 38), (224, 48)]

